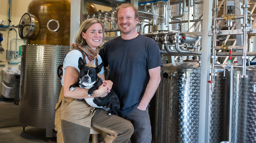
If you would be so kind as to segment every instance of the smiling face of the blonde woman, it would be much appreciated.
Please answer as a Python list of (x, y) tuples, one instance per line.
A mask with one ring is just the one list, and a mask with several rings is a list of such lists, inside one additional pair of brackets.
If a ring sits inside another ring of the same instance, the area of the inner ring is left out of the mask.
[(87, 45), (96, 50), (96, 47), (101, 45), (103, 39), (102, 26), (99, 23), (93, 24), (85, 33), (82, 32)]

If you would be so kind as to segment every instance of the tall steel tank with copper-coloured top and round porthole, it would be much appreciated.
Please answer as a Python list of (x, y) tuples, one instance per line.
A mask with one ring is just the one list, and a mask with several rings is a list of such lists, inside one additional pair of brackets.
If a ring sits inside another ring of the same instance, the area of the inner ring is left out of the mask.
[(20, 24), (35, 26), (19, 27), (20, 37), (27, 39), (22, 46), (19, 122), (46, 128), (51, 137), (62, 87), (57, 68), (70, 50), (70, 0), (33, 0)]

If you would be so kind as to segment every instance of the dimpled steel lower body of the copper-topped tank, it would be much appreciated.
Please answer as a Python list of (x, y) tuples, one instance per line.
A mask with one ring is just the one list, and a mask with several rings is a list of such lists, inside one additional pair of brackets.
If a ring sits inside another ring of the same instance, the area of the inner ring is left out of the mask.
[(22, 46), (20, 124), (38, 128), (55, 127), (55, 105), (62, 87), (57, 68), (63, 64), (69, 50), (69, 46)]

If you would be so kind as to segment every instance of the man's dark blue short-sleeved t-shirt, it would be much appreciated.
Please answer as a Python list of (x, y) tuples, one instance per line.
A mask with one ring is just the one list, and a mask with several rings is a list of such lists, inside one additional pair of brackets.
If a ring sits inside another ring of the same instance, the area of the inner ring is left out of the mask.
[(110, 66), (108, 80), (120, 100), (120, 112), (127, 115), (139, 106), (150, 76), (149, 69), (162, 66), (157, 43), (146, 36), (108, 41), (99, 52), (104, 66)]

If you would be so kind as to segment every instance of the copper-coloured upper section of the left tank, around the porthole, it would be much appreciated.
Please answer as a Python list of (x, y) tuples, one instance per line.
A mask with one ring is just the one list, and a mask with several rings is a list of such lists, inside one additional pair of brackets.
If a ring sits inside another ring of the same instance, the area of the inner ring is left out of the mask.
[[(28, 12), (35, 15), (39, 22), (39, 31), (27, 44), (70, 45), (70, 0), (33, 0), (28, 5)], [(55, 19), (59, 29), (48, 30), (48, 21)]]

